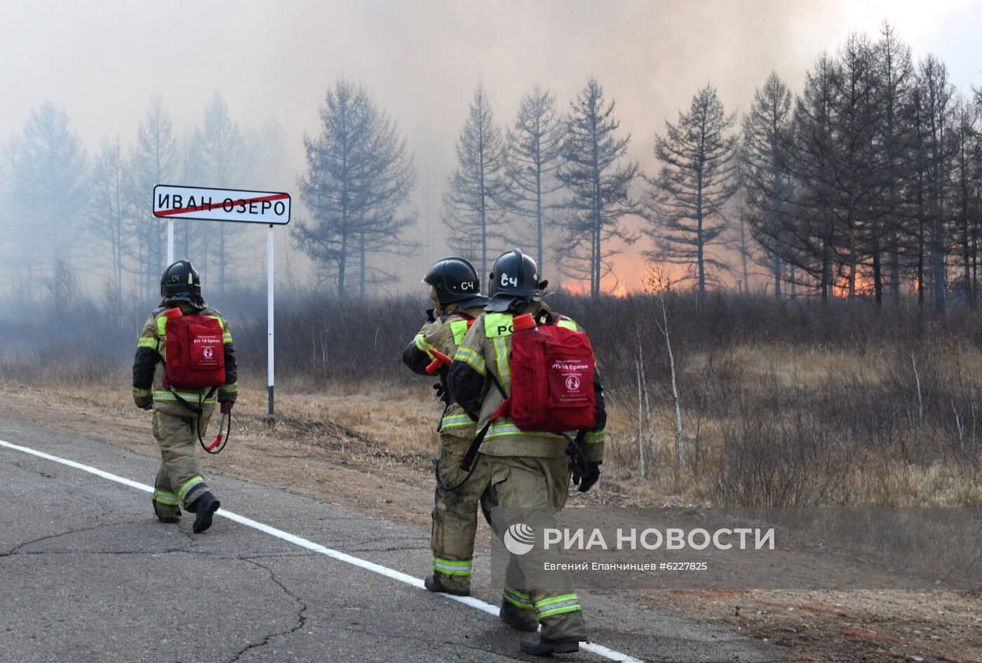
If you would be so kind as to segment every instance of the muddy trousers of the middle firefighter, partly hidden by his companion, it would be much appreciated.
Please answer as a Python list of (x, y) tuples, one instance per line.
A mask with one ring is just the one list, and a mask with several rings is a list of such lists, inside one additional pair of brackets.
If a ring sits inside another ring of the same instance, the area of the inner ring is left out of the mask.
[[(440, 436), (440, 480), (445, 485), (460, 483), (465, 476), (461, 459), (470, 440), (456, 435)], [(474, 533), (481, 495), (488, 485), (488, 466), (483, 455), (474, 461), (474, 473), (456, 490), (436, 487), (433, 496), (433, 573), (448, 589), (469, 591), (474, 556)]]

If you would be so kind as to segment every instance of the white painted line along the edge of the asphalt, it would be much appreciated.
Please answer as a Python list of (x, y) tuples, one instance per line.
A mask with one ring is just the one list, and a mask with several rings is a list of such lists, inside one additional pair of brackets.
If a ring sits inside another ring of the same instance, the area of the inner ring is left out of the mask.
[[(0, 440), (0, 447), (6, 447), (8, 449), (13, 449), (14, 451), (21, 451), (25, 454), (30, 454), (31, 456), (36, 456), (37, 458), (43, 458), (46, 461), (54, 461), (55, 463), (60, 463), (62, 465), (68, 466), (69, 468), (75, 468), (76, 470), (87, 471), (90, 474), (95, 474), (96, 476), (101, 476), (104, 479), (110, 481), (115, 481), (117, 483), (122, 483), (125, 486), (130, 486), (131, 488), (136, 488), (136, 490), (142, 490), (143, 492), (152, 493), (153, 487), (148, 486), (145, 483), (139, 483), (137, 481), (128, 479), (124, 476), (119, 476), (118, 474), (113, 474), (108, 471), (99, 470), (97, 468), (92, 468), (91, 466), (82, 465), (82, 463), (76, 463), (75, 461), (70, 461), (59, 456), (52, 456), (51, 454), (46, 454), (43, 451), (37, 451), (36, 449), (31, 449), (30, 447), (22, 447), (17, 444), (12, 444), (10, 442), (5, 442)], [(413, 578), (409, 574), (404, 574), (401, 571), (396, 571), (395, 569), (390, 569), (389, 567), (383, 567), (381, 564), (375, 564), (374, 562), (369, 562), (368, 560), (363, 560), (360, 557), (355, 557), (354, 555), (349, 555), (348, 553), (343, 553), (340, 550), (334, 550), (333, 548), (327, 548), (320, 545), (319, 543), (314, 543), (313, 541), (298, 536), (297, 534), (291, 534), (289, 531), (283, 531), (282, 529), (277, 529), (272, 525), (266, 525), (265, 523), (259, 523), (258, 521), (253, 521), (251, 518), (246, 518), (245, 516), (240, 516), (239, 514), (234, 514), (231, 511), (226, 511), (225, 509), (219, 509), (215, 512), (216, 516), (223, 516), (230, 521), (234, 521), (240, 525), (246, 525), (246, 527), (252, 527), (253, 529), (258, 529), (259, 531), (265, 532), (270, 536), (276, 536), (284, 541), (289, 541), (294, 545), (299, 545), (301, 548), (306, 548), (315, 553), (320, 553), (321, 555), (326, 555), (332, 559), (336, 559), (339, 562), (345, 562), (346, 564), (351, 564), (365, 571), (370, 571), (380, 576), (385, 576), (386, 578), (391, 578), (392, 580), (399, 580), (400, 582), (405, 582), (413, 587), (423, 589), (423, 581), (418, 578)], [(490, 603), (485, 603), (484, 601), (474, 598), (473, 596), (454, 596), (452, 594), (440, 594), (444, 598), (448, 598), (452, 601), (457, 601), (458, 603), (463, 603), (464, 605), (469, 605), (471, 608), (476, 608), (482, 612), (486, 612), (489, 615), (498, 616), (498, 606), (491, 605)], [(633, 656), (628, 656), (627, 654), (621, 653), (614, 649), (603, 646), (602, 644), (597, 644), (596, 642), (580, 642), (579, 648), (593, 652), (599, 656), (603, 656), (612, 661), (621, 661), (623, 663), (642, 663), (639, 659)]]

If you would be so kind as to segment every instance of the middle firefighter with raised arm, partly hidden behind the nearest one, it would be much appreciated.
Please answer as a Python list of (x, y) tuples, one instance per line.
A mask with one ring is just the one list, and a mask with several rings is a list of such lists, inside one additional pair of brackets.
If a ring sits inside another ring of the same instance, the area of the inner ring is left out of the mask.
[[(436, 359), (434, 351), (448, 358), (454, 357), (467, 329), (488, 300), (480, 294), (477, 271), (461, 257), (438, 260), (426, 272), (422, 282), (430, 286), (433, 308), (427, 311), (429, 321), (403, 351), (403, 361), (414, 373), (426, 375), (427, 366)], [(425, 584), (430, 591), (467, 596), (470, 594), (477, 510), (488, 484), (488, 470), (484, 460), (478, 458), (469, 478), (464, 480), (466, 473), (460, 471), (461, 459), (474, 437), (474, 422), (459, 405), (450, 402), (446, 388), (447, 368), (440, 366), (440, 384), (437, 385), (445, 408), (437, 428), (440, 453), (430, 537), (433, 574), (426, 578)]]

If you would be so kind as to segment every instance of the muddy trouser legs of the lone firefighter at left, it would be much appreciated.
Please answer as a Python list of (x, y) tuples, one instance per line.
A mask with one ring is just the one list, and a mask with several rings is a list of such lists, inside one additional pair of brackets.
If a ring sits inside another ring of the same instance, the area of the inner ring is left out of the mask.
[[(162, 459), (157, 475), (159, 477), (161, 473), (167, 474), (170, 479), (170, 490), (167, 492), (176, 495), (177, 506), (186, 511), (193, 511), (193, 502), (208, 490), (194, 449), (197, 444), (197, 433), (194, 431), (196, 424), (197, 417), (191, 414), (178, 416), (159, 411), (153, 413), (153, 436), (160, 447)], [(202, 415), (202, 431), (206, 425), (207, 415)], [(191, 505), (191, 509), (188, 505)]]

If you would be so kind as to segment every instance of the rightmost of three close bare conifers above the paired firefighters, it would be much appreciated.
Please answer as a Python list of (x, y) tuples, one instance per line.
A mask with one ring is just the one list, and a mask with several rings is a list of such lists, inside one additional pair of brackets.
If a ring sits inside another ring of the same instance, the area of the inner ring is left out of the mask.
[(599, 297), (600, 280), (609, 273), (610, 258), (617, 253), (609, 242), (620, 239), (629, 244), (636, 239), (621, 222), (637, 212), (629, 193), (637, 164), (625, 162), (630, 136), (616, 136), (621, 123), (614, 118), (614, 108), (614, 100), (606, 102), (603, 87), (590, 78), (570, 104), (559, 170), (560, 181), (569, 190), (559, 266), (573, 278), (588, 277), (594, 298)]

